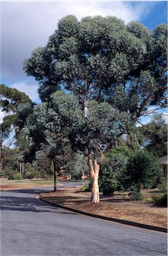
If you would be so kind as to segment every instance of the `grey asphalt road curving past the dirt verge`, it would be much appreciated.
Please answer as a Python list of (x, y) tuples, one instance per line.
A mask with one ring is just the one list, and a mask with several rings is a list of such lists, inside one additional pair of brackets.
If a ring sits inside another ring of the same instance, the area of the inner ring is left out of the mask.
[(1, 256), (167, 255), (166, 233), (53, 207), (35, 198), (46, 190), (1, 192)]

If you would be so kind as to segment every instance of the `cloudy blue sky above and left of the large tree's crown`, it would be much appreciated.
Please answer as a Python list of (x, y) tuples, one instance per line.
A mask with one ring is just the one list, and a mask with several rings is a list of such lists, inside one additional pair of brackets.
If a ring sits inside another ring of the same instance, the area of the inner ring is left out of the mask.
[(1, 1), (0, 82), (39, 102), (38, 83), (23, 72), (23, 61), (46, 45), (58, 20), (69, 14), (79, 21), (87, 15), (115, 15), (151, 30), (167, 23), (167, 1)]

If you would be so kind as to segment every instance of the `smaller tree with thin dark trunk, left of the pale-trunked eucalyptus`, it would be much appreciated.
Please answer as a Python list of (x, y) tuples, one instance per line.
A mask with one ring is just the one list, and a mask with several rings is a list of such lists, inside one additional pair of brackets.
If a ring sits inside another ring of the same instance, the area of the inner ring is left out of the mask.
[[(58, 91), (58, 99), (62, 99), (61, 91)], [(54, 191), (56, 191), (56, 173), (60, 172), (60, 168), (67, 164), (67, 159), (70, 155), (70, 112), (64, 109), (66, 104), (70, 111), (73, 108), (74, 102), (70, 102), (69, 98), (61, 101), (60, 108), (56, 104), (54, 98), (56, 95), (50, 97), (50, 102), (43, 102), (37, 105), (32, 116), (27, 118), (27, 124), (24, 131), (25, 136), (31, 140), (31, 147), (25, 158), (34, 162), (41, 171), (49, 173), (54, 171)], [(61, 108), (61, 103), (62, 108)], [(72, 103), (72, 106), (70, 106)], [(58, 111), (59, 110), (59, 111)]]

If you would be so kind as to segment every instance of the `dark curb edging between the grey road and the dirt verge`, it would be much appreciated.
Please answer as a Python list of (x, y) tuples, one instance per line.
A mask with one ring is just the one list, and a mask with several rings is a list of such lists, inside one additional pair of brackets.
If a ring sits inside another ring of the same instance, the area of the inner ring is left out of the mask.
[(141, 227), (143, 229), (150, 229), (150, 230), (154, 230), (154, 231), (159, 231), (159, 232), (167, 233), (167, 229), (165, 227), (156, 227), (156, 226), (146, 225), (146, 224), (137, 223), (137, 222), (133, 222), (133, 221), (126, 221), (126, 220), (123, 220), (123, 219), (116, 219), (116, 218), (112, 218), (112, 217), (105, 217), (105, 216), (96, 215), (96, 214), (92, 214), (92, 213), (86, 213), (85, 211), (80, 211), (78, 209), (72, 209), (70, 207), (59, 205), (57, 203), (52, 203), (50, 201), (45, 200), (40, 195), (38, 195), (38, 198), (41, 201), (44, 201), (45, 203), (48, 203), (50, 205), (54, 205), (56, 207), (59, 207), (59, 208), (62, 208), (62, 209), (66, 209), (68, 211), (73, 211), (75, 213), (80, 213), (80, 214), (83, 214), (83, 215), (86, 215), (86, 216), (96, 217), (98, 219), (105, 219), (105, 220), (108, 220), (108, 221), (114, 221), (116, 223), (122, 223), (122, 224), (125, 224), (125, 225), (131, 225), (133, 227)]

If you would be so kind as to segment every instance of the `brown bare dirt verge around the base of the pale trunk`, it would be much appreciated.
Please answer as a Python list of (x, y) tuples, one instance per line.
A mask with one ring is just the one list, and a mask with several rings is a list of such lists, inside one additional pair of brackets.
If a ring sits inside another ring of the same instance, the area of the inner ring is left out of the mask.
[(131, 201), (129, 197), (100, 195), (100, 203), (93, 204), (90, 202), (90, 192), (82, 192), (80, 188), (46, 192), (41, 197), (46, 201), (87, 213), (167, 228), (167, 207)]

